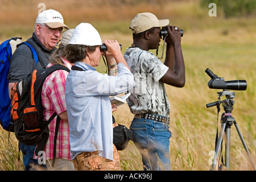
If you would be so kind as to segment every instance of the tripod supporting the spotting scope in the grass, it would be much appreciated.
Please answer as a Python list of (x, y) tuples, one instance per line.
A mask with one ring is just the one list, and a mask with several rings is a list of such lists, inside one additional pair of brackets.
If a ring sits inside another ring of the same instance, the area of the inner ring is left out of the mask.
[[(217, 106), (218, 111), (220, 111), (220, 104), (222, 103), (222, 105), (224, 106), (224, 110), (225, 113), (222, 114), (221, 116), (221, 131), (220, 131), (220, 135), (218, 137), (217, 140), (217, 144), (215, 146), (215, 153), (214, 153), (214, 158), (213, 158), (213, 163), (212, 163), (212, 168), (211, 170), (214, 170), (216, 163), (217, 163), (217, 157), (218, 154), (220, 152), (220, 148), (221, 148), (221, 143), (222, 143), (222, 139), (224, 137), (224, 133), (226, 135), (226, 141), (225, 141), (225, 167), (227, 169), (229, 169), (229, 159), (230, 159), (230, 127), (233, 125), (236, 127), (237, 129), (237, 133), (241, 139), (241, 142), (243, 144), (243, 147), (245, 148), (245, 151), (248, 155), (248, 157), (251, 160), (251, 164), (255, 169), (254, 163), (253, 163), (253, 159), (251, 158), (250, 152), (245, 144), (245, 140), (242, 137), (241, 131), (237, 125), (236, 120), (232, 117), (232, 110), (233, 110), (233, 105), (234, 105), (234, 100), (233, 98), (235, 97), (234, 92), (229, 92), (228, 90), (224, 90), (223, 92), (218, 92), (218, 101), (216, 102), (212, 102), (210, 104), (207, 104), (207, 107), (212, 107), (212, 106)], [(221, 96), (226, 96), (226, 100), (220, 101)]]

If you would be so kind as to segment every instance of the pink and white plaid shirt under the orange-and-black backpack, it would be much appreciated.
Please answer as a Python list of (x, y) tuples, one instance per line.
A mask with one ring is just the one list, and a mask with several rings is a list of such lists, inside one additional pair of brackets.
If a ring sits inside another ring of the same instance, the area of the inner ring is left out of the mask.
[[(72, 65), (65, 59), (62, 60), (64, 64), (71, 69)], [(47, 67), (53, 64), (49, 63)], [(51, 115), (56, 111), (57, 114), (63, 113), (67, 110), (65, 102), (65, 82), (68, 72), (64, 70), (57, 70), (49, 75), (44, 81), (42, 87), (42, 103), (44, 106), (44, 121), (47, 121)], [(53, 140), (56, 126), (55, 117), (49, 127), (49, 138), (44, 148), (46, 152), (46, 160), (53, 159)], [(69, 125), (67, 121), (60, 119), (59, 133), (57, 135), (56, 144), (56, 158), (63, 158), (71, 160), (70, 144), (69, 144)]]

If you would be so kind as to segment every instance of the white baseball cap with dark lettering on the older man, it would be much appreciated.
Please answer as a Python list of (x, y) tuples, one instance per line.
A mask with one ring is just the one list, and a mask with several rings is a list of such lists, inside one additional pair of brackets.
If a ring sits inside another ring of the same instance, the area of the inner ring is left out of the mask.
[(64, 27), (67, 30), (69, 29), (68, 26), (64, 24), (63, 16), (58, 11), (52, 9), (40, 13), (36, 18), (36, 24), (37, 23), (45, 23), (51, 28)]

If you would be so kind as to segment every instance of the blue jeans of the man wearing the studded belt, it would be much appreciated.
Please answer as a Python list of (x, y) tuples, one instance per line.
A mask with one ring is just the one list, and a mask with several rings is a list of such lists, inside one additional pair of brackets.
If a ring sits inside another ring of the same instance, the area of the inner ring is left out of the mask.
[(151, 119), (134, 118), (130, 130), (133, 142), (142, 155), (144, 170), (171, 170), (170, 137), (166, 123)]

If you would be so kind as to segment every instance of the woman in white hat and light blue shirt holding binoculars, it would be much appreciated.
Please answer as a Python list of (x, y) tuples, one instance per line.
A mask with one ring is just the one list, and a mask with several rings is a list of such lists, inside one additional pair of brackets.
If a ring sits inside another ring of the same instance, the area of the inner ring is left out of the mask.
[[(89, 23), (79, 24), (66, 47), (67, 60), (75, 63), (66, 81), (71, 158), (76, 170), (120, 170), (113, 144), (112, 105), (109, 96), (133, 88), (134, 77), (116, 40), (105, 40), (109, 67), (117, 76), (96, 71), (102, 45)], [(117, 71), (115, 71), (117, 69)]]

